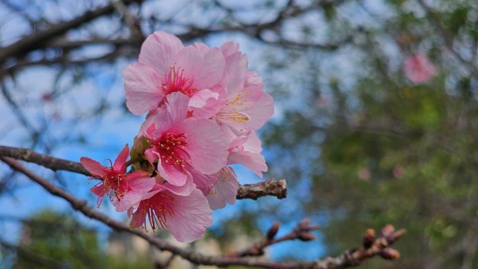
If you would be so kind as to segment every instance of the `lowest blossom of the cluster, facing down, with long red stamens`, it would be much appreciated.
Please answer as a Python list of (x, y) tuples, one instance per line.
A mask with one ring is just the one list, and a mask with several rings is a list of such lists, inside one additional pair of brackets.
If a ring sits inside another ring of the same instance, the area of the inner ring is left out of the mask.
[[(192, 242), (202, 237), (211, 225), (212, 214), (207, 199), (198, 189), (190, 193), (177, 192), (169, 183), (156, 184), (153, 190), (143, 196), (130, 226), (147, 229), (147, 222), (155, 231), (168, 228), (179, 242)], [(181, 189), (181, 188), (179, 188)]]

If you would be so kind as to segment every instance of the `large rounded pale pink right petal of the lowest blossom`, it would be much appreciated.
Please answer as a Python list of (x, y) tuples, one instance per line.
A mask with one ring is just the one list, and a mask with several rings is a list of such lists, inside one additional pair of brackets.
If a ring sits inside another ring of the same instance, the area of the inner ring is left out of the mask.
[(192, 242), (204, 235), (212, 223), (212, 213), (206, 197), (198, 189), (189, 196), (168, 194), (174, 202), (170, 204), (174, 217), (166, 214), (166, 224), (179, 242)]

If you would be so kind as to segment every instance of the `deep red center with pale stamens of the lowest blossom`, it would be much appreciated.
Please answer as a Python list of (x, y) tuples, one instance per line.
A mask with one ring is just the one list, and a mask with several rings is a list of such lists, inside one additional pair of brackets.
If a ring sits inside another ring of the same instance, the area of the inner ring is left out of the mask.
[[(166, 229), (166, 214), (174, 218), (174, 211), (171, 207), (171, 203), (174, 202), (174, 198), (171, 196), (159, 192), (155, 196), (146, 199), (141, 202), (140, 208), (138, 208), (138, 213), (143, 215), (143, 218), (148, 217), (150, 226), (153, 229), (153, 232), (156, 228), (161, 230)], [(146, 221), (143, 226), (146, 230)]]

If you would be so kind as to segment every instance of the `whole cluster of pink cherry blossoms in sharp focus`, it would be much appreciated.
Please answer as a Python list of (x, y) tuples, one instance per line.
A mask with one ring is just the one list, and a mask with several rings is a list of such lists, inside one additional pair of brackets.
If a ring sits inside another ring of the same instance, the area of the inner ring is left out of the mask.
[(98, 206), (108, 196), (132, 228), (167, 228), (181, 242), (204, 235), (211, 210), (235, 203), (239, 183), (228, 165), (267, 171), (255, 131), (271, 118), (273, 99), (247, 65), (234, 42), (209, 48), (148, 36), (123, 72), (126, 106), (147, 113), (131, 151), (127, 144), (111, 167), (81, 158), (101, 180), (91, 188)]

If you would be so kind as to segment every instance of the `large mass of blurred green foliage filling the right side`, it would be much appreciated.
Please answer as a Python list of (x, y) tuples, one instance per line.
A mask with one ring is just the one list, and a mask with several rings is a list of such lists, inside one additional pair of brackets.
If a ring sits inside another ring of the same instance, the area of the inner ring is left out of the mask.
[[(300, 209), (330, 218), (322, 227), (328, 254), (357, 246), (367, 228), (390, 223), (407, 230), (396, 245), (400, 260), (376, 259), (365, 268), (461, 268), (465, 261), (466, 268), (477, 268), (478, 77), (463, 71), (469, 70), (463, 61), (457, 64), (435, 25), (453, 40), (474, 40), (476, 49), (476, 3), (439, 1), (433, 16), (424, 16), (410, 8), (411, 1), (388, 2), (393, 16), (358, 45), (363, 58), (352, 64), (357, 76), (351, 86), (344, 86), (350, 77), (320, 72), (331, 64), (300, 60), (315, 65), (315, 72), (295, 70), (302, 77), (284, 100), (301, 106), (286, 110), (264, 132), (265, 147), (278, 151), (269, 163), (280, 168), (277, 176), (292, 178), (291, 188), (298, 178), (311, 183), (312, 198), (301, 200)], [(400, 51), (387, 50), (384, 33)], [(402, 64), (390, 65), (417, 51), (439, 71), (428, 83), (414, 84)], [(324, 106), (295, 93), (314, 79), (329, 81), (321, 87)], [(309, 167), (300, 166), (304, 159)]]

